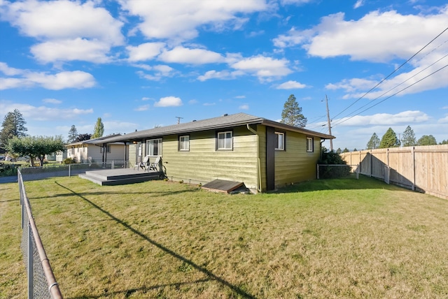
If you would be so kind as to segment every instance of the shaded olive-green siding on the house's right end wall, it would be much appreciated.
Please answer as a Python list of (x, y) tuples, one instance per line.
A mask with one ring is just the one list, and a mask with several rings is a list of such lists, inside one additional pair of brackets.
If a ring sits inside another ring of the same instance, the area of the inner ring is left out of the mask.
[(275, 186), (316, 179), (316, 164), (320, 156), (320, 138), (314, 138), (314, 152), (307, 152), (307, 136), (286, 132), (286, 150), (275, 152)]

